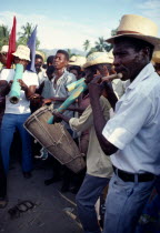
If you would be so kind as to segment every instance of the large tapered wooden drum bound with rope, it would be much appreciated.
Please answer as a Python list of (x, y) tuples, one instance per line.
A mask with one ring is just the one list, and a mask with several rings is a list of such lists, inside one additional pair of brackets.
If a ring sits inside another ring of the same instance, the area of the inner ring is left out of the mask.
[(47, 123), (51, 116), (51, 108), (44, 105), (31, 114), (23, 126), (61, 164), (78, 173), (86, 168), (82, 154), (61, 123)]

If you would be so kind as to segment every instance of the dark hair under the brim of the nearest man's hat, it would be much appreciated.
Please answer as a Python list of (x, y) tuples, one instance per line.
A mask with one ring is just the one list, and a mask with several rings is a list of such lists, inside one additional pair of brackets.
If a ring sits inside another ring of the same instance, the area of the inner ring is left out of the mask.
[(137, 38), (130, 38), (130, 37), (119, 37), (114, 39), (114, 43), (122, 43), (126, 42), (126, 47), (129, 48), (133, 48), (136, 52), (139, 52), (140, 50), (144, 49), (144, 48), (149, 48), (150, 53), (149, 53), (149, 59), (152, 59), (152, 53), (154, 50), (154, 45), (141, 40), (141, 39), (137, 39)]

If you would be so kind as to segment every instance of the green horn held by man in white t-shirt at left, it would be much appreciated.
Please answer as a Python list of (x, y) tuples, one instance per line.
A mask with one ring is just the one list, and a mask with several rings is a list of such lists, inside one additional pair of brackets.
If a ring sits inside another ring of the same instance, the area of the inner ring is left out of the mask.
[(10, 102), (16, 104), (19, 102), (19, 98), (20, 98), (20, 91), (21, 91), (21, 87), (20, 83), (18, 82), (18, 79), (22, 79), (22, 74), (23, 74), (23, 65), (22, 64), (17, 64), (16, 65), (16, 73), (14, 73), (14, 78), (13, 78), (13, 83), (11, 85), (11, 91), (10, 91)]

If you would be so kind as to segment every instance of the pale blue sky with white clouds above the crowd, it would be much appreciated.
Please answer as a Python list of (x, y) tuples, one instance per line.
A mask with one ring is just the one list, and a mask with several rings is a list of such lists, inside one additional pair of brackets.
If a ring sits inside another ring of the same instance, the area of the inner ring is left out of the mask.
[(40, 49), (79, 49), (83, 42), (110, 37), (123, 14), (147, 17), (159, 26), (160, 0), (8, 0), (0, 8), (0, 24), (17, 31), (27, 22), (38, 26)]

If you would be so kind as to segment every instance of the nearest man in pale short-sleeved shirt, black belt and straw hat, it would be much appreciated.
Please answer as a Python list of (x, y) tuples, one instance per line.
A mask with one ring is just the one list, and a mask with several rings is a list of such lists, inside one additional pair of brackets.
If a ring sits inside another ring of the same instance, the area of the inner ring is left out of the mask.
[(160, 174), (160, 79), (150, 63), (158, 49), (158, 27), (140, 16), (123, 16), (113, 44), (113, 65), (130, 80), (107, 123), (99, 102), (100, 84), (89, 84), (96, 132), (111, 155), (114, 174), (106, 201), (104, 233), (130, 233)]

